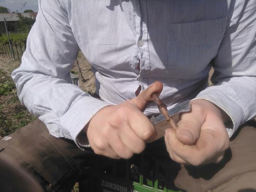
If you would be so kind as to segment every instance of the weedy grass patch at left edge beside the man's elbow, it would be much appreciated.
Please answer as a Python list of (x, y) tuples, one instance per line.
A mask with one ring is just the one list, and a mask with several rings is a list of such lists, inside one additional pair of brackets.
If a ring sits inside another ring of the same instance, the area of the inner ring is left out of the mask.
[(0, 139), (35, 119), (36, 117), (21, 105), (10, 76), (0, 70)]

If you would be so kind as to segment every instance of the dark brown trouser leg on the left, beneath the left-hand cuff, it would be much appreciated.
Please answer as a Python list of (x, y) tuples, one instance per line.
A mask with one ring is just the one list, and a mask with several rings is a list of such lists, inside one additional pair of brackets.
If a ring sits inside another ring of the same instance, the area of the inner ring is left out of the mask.
[[(46, 191), (71, 191), (81, 177), (97, 173), (95, 154), (72, 140), (50, 135), (40, 120), (0, 140), (0, 156), (33, 175)], [(84, 171), (86, 170), (86, 171)]]

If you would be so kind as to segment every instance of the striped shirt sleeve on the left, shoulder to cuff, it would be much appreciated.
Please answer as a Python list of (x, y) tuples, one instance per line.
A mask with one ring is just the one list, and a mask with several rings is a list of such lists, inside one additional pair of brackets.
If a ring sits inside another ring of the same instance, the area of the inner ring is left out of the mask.
[(39, 0), (36, 22), (19, 68), (12, 72), (18, 97), (50, 134), (76, 141), (84, 126), (109, 103), (70, 84), (78, 52), (62, 1)]

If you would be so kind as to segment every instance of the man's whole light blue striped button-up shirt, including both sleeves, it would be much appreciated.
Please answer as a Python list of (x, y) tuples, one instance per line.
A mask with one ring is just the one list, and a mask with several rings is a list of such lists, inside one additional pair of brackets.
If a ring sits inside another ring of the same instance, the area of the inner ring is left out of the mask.
[[(76, 141), (100, 109), (155, 81), (168, 109), (193, 98), (215, 103), (233, 121), (231, 136), (256, 115), (255, 46), (255, 0), (39, 0), (12, 78), (20, 101), (57, 137)], [(69, 83), (79, 48), (103, 101)], [(211, 66), (216, 85), (208, 87)], [(151, 103), (144, 113), (159, 111)]]

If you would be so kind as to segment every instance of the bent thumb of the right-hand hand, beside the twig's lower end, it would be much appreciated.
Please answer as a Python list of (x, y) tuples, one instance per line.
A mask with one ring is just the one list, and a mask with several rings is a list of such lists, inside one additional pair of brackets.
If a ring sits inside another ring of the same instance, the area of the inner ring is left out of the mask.
[(186, 145), (195, 144), (199, 138), (204, 118), (203, 114), (193, 113), (193, 109), (191, 112), (183, 113), (176, 130), (177, 139)]

